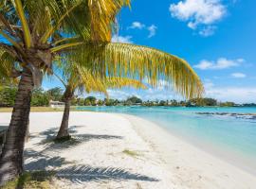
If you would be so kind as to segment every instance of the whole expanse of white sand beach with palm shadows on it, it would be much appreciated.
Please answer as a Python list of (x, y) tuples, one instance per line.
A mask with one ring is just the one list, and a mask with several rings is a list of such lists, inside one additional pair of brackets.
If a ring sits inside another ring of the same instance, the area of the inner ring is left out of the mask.
[[(9, 119), (0, 113), (0, 126)], [(53, 144), (46, 137), (56, 134), (61, 119), (61, 112), (31, 113), (25, 153), (27, 170), (57, 172), (58, 188), (256, 188), (255, 176), (138, 117), (71, 112), (75, 140)]]

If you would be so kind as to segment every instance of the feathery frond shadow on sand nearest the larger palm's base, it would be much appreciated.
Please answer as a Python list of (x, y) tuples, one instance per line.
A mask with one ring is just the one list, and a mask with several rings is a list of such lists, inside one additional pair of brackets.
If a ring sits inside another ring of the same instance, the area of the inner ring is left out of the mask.
[(145, 175), (131, 173), (119, 167), (93, 167), (90, 165), (78, 164), (68, 165), (61, 157), (49, 157), (33, 150), (27, 150), (27, 157), (38, 158), (35, 161), (25, 163), (27, 171), (49, 171), (55, 172), (55, 176), (60, 179), (72, 182), (106, 181), (106, 180), (144, 180), (159, 181)]

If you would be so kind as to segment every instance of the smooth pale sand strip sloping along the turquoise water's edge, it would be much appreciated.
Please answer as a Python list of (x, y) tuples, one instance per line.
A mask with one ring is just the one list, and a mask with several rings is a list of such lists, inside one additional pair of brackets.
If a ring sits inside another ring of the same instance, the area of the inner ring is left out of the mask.
[(129, 119), (145, 141), (152, 144), (176, 179), (188, 183), (189, 188), (255, 187), (255, 175), (215, 157), (210, 150), (202, 150), (153, 122), (134, 115), (122, 116)]

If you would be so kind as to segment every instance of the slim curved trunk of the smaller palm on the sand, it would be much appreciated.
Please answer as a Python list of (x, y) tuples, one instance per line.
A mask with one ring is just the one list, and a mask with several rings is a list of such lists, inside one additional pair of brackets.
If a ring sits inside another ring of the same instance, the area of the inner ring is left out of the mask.
[(63, 121), (61, 128), (59, 129), (58, 135), (56, 139), (61, 139), (61, 138), (68, 138), (69, 133), (68, 133), (68, 120), (69, 120), (69, 111), (70, 111), (70, 104), (71, 104), (71, 99), (73, 97), (73, 92), (69, 87), (66, 88), (64, 92), (64, 115), (63, 115)]

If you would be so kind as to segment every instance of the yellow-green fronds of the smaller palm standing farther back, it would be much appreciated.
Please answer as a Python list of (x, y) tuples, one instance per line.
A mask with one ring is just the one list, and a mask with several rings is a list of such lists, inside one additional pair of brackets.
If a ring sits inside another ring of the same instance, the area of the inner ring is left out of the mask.
[(96, 92), (107, 94), (107, 89), (117, 89), (123, 87), (133, 87), (136, 89), (146, 89), (141, 81), (126, 77), (102, 77), (100, 73), (92, 72), (86, 65), (70, 62), (68, 60), (56, 61), (57, 67), (55, 76), (64, 84), (64, 87), (69, 87), (71, 92), (79, 89), (81, 93)]

